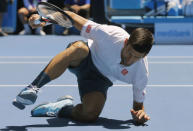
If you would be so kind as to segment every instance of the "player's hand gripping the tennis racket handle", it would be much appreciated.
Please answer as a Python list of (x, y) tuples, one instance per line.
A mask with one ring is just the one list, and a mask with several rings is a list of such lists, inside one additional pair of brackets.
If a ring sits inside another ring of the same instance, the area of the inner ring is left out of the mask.
[(38, 14), (33, 14), (30, 18), (29, 18), (29, 24), (30, 26), (34, 29), (34, 28), (38, 28), (38, 27), (43, 27), (46, 25), (46, 22), (41, 22), (40, 24), (35, 24), (35, 20), (40, 19), (40, 15)]

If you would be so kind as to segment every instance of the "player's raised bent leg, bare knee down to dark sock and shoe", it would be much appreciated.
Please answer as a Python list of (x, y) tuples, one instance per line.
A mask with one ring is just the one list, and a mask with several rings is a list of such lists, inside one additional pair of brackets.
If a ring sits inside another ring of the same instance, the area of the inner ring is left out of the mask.
[(24, 109), (25, 105), (34, 104), (37, 98), (37, 89), (59, 77), (68, 66), (78, 66), (88, 53), (88, 47), (82, 41), (77, 41), (56, 55), (32, 82), (32, 85), (24, 88), (18, 94), (13, 105), (19, 109)]

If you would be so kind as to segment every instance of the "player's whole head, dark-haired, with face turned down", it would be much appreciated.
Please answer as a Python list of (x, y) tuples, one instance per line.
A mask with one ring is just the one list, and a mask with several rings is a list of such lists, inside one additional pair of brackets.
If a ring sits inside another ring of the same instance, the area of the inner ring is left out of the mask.
[(153, 34), (149, 30), (135, 29), (121, 52), (122, 64), (129, 66), (145, 57), (151, 50), (153, 41)]

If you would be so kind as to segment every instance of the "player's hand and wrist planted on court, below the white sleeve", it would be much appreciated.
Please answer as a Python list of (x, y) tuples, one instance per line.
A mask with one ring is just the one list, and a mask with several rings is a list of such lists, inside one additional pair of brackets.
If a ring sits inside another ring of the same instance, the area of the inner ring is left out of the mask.
[(131, 115), (133, 119), (139, 124), (143, 124), (150, 120), (150, 117), (145, 112), (143, 103), (136, 101), (133, 101), (133, 109), (131, 109)]

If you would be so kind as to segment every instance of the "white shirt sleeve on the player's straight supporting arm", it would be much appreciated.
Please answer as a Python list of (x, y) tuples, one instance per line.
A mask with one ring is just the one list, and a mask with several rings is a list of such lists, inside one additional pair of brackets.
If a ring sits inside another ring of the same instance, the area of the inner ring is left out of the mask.
[(148, 83), (148, 67), (140, 66), (137, 69), (136, 75), (133, 79), (133, 100), (139, 103), (143, 103), (146, 96), (146, 88)]

